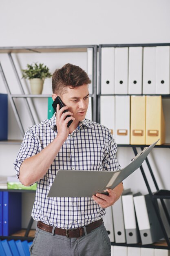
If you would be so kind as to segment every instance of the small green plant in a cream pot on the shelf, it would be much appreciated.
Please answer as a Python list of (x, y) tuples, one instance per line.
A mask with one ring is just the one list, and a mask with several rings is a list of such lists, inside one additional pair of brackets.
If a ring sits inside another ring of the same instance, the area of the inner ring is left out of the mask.
[(44, 80), (51, 77), (49, 68), (43, 63), (27, 64), (27, 69), (22, 70), (22, 78), (29, 79), (32, 94), (41, 94), (43, 89)]

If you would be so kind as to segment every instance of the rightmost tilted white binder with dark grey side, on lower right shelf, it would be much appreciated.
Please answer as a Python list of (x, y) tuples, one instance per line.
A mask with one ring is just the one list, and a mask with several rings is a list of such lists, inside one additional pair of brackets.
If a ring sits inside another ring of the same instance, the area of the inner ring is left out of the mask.
[(150, 195), (133, 198), (142, 245), (152, 244), (163, 238), (163, 233)]

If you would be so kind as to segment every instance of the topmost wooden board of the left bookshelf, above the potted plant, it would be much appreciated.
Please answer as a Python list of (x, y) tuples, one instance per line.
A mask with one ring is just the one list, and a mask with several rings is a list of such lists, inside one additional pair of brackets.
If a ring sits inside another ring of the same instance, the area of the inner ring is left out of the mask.
[(96, 45), (0, 47), (0, 53), (87, 52), (87, 48), (94, 47)]

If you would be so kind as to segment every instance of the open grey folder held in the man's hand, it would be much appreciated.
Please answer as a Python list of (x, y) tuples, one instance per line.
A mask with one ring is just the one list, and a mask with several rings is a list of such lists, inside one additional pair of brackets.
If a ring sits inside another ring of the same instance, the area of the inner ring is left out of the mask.
[(96, 193), (106, 193), (106, 189), (114, 189), (141, 166), (158, 141), (144, 148), (125, 168), (115, 172), (58, 170), (47, 197), (92, 197)]

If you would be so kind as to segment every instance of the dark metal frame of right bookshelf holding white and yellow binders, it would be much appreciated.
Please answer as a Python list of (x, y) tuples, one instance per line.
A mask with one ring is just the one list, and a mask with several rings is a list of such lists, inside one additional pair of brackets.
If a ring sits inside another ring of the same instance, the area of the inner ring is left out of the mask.
[[(110, 95), (112, 95), (112, 96), (115, 96), (115, 95), (120, 95), (120, 96), (123, 96), (123, 95), (135, 95), (135, 94), (101, 94), (101, 74), (102, 74), (102, 47), (139, 47), (139, 46), (141, 46), (141, 47), (153, 47), (153, 46), (170, 46), (170, 43), (160, 43), (160, 44), (109, 44), (109, 45), (99, 45), (99, 93), (98, 93), (98, 95), (97, 95), (97, 106), (98, 106), (98, 113), (97, 113), (97, 122), (98, 123), (100, 123), (100, 97), (101, 96), (110, 96)], [(141, 95), (146, 95), (146, 94), (137, 94), (137, 96), (141, 96)], [(147, 94), (148, 95), (148, 94)], [(160, 94), (159, 94), (160, 95)], [(152, 96), (154, 96), (153, 94), (152, 94)], [(155, 96), (158, 96), (158, 94), (155, 94)], [(170, 94), (162, 94), (161, 95), (163, 98), (170, 98)], [(119, 146), (119, 147), (132, 147), (132, 149), (133, 149), (133, 152), (134, 152), (134, 154), (135, 155), (137, 155), (137, 147), (138, 148), (141, 148), (141, 150), (143, 150), (144, 149), (144, 147), (145, 146), (149, 146), (149, 145), (131, 145), (131, 144), (128, 144), (128, 145), (117, 145), (117, 146)], [(170, 148), (170, 144), (163, 144), (163, 145), (157, 145), (157, 146), (155, 146), (156, 148)], [(149, 172), (150, 172), (150, 175), (151, 175), (151, 177), (152, 177), (152, 180), (153, 180), (153, 182), (154, 182), (154, 184), (155, 184), (155, 188), (157, 189), (157, 191), (159, 191), (159, 187), (158, 187), (158, 184), (157, 184), (157, 182), (156, 182), (156, 180), (155, 180), (155, 177), (154, 177), (154, 174), (153, 174), (153, 172), (152, 172), (152, 168), (151, 168), (151, 166), (150, 166), (150, 163), (149, 163), (149, 161), (148, 161), (148, 158), (146, 158), (146, 164), (147, 164), (147, 166), (148, 166), (148, 169), (149, 169)], [(160, 223), (160, 225), (161, 225), (161, 229), (162, 229), (162, 231), (163, 231), (163, 235), (164, 235), (164, 238), (165, 238), (165, 240), (166, 240), (166, 243), (167, 243), (167, 246), (160, 246), (160, 247), (158, 247), (157, 245), (144, 245), (144, 246), (142, 246), (142, 245), (128, 245), (128, 244), (117, 244), (117, 243), (112, 243), (112, 245), (121, 245), (121, 246), (135, 246), (135, 247), (148, 247), (148, 248), (161, 248), (161, 249), (170, 249), (170, 240), (169, 240), (169, 238), (168, 238), (168, 234), (167, 234), (167, 232), (166, 232), (166, 229), (165, 229), (165, 227), (164, 227), (164, 224), (163, 224), (163, 221), (162, 221), (162, 219), (161, 219), (161, 216), (160, 216), (160, 212), (159, 212), (159, 209), (157, 208), (157, 204), (156, 204), (156, 200), (157, 199), (160, 199), (160, 201), (161, 201), (161, 205), (162, 205), (162, 208), (163, 208), (163, 211), (164, 211), (164, 213), (165, 213), (165, 215), (166, 215), (166, 219), (167, 219), (167, 221), (168, 221), (168, 224), (169, 224), (169, 226), (170, 226), (170, 214), (169, 214), (169, 212), (168, 212), (168, 209), (167, 209), (167, 207), (166, 207), (166, 204), (165, 204), (165, 202), (163, 201), (164, 199), (170, 199), (170, 196), (161, 196), (161, 195), (153, 195), (153, 193), (152, 193), (152, 191), (151, 191), (151, 189), (150, 189), (150, 185), (149, 185), (149, 183), (148, 183), (148, 180), (147, 180), (147, 178), (146, 178), (146, 175), (145, 175), (145, 172), (144, 172), (144, 168), (142, 167), (142, 165), (141, 165), (141, 167), (140, 167), (140, 170), (141, 170), (141, 173), (142, 173), (142, 176), (143, 176), (143, 178), (144, 178), (144, 182), (145, 182), (145, 184), (146, 184), (146, 187), (147, 187), (147, 189), (148, 189), (148, 193), (149, 193), (149, 195), (150, 195), (150, 198), (151, 198), (151, 200), (152, 200), (152, 204), (153, 204), (153, 206), (154, 206), (154, 209), (155, 209), (155, 212), (156, 212), (156, 214), (157, 214), (157, 217), (158, 217), (158, 220), (159, 220), (159, 223)]]

